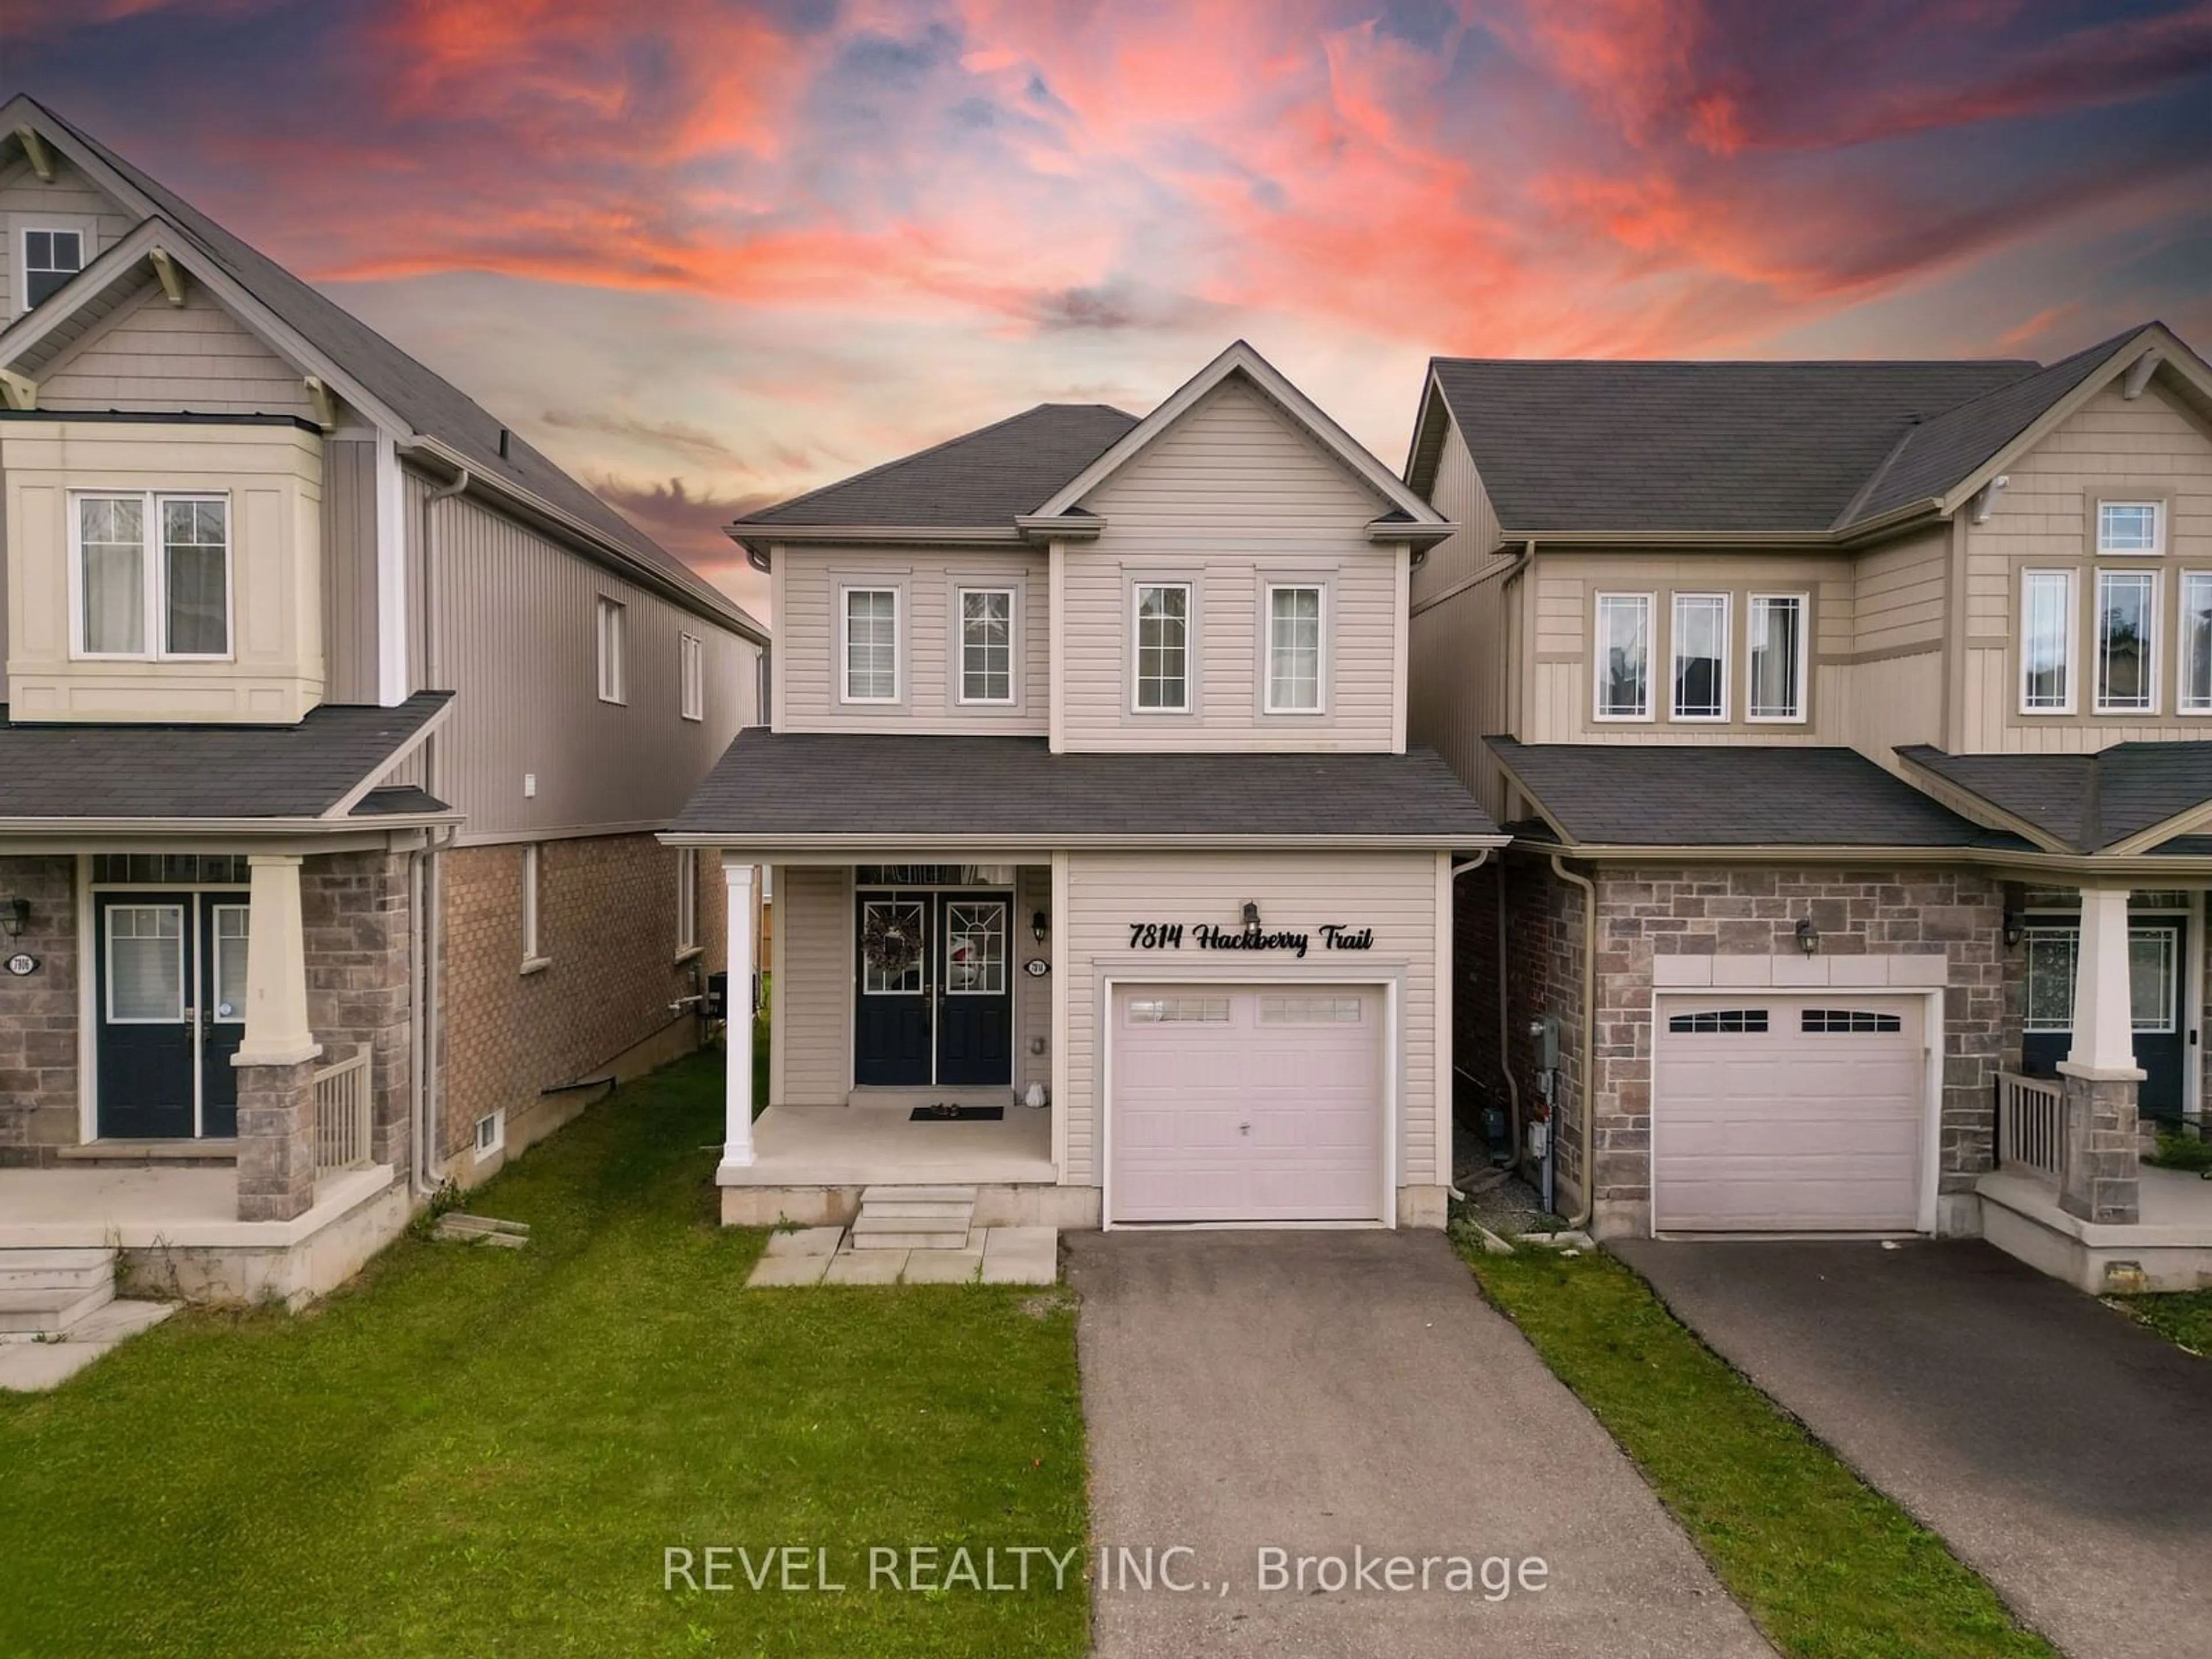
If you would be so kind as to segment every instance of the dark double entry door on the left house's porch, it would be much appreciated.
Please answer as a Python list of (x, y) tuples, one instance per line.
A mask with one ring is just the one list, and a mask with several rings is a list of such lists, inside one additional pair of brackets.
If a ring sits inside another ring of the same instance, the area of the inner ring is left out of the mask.
[(104, 1139), (232, 1137), (246, 1035), (243, 891), (95, 891)]

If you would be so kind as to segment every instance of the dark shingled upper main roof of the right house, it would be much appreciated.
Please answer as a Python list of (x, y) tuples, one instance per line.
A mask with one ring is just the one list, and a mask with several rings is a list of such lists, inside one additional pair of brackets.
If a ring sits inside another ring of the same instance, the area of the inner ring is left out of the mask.
[(1940, 495), (2139, 330), (2042, 367), (1436, 358), (1506, 533), (1827, 531)]

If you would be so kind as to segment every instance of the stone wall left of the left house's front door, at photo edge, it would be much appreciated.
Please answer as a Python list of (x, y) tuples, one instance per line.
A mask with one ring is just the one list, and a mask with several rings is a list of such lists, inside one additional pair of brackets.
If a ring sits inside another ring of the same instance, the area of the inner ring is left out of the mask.
[(0, 898), (29, 898), (22, 938), (38, 971), (0, 973), (0, 1164), (35, 1164), (77, 1139), (77, 860), (0, 858)]

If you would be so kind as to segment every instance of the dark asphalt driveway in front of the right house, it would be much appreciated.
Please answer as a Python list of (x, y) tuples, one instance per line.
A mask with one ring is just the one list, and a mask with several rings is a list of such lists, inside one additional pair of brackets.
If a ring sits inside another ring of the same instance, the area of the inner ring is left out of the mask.
[(2212, 1655), (2212, 1360), (1978, 1241), (1615, 1250), (2068, 1655)]

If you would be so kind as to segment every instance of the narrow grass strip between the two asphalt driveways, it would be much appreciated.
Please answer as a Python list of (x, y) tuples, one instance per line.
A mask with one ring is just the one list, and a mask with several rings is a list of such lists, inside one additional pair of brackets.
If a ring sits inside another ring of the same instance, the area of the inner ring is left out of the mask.
[(1723, 1365), (1613, 1256), (1471, 1254), (1790, 1659), (2055, 1659), (1940, 1537)]

